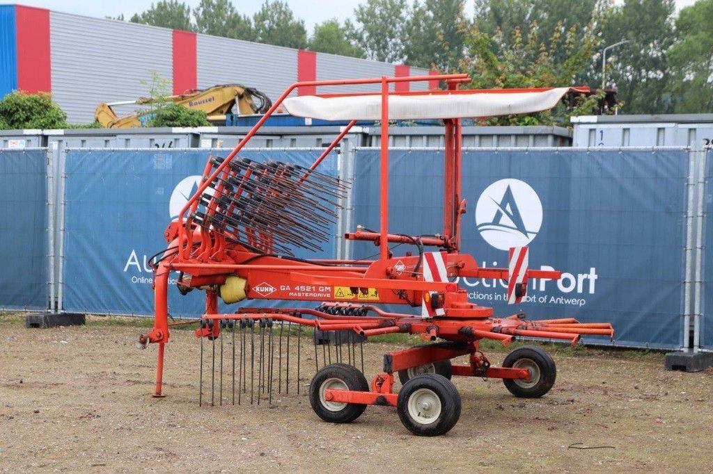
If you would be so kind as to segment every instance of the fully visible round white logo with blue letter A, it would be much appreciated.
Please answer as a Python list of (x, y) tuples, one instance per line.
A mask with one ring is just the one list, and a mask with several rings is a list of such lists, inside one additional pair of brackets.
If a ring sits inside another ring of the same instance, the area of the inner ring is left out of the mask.
[(501, 179), (488, 186), (476, 204), (476, 226), (491, 246), (500, 250), (528, 245), (542, 226), (542, 202), (519, 179)]

